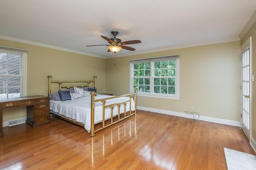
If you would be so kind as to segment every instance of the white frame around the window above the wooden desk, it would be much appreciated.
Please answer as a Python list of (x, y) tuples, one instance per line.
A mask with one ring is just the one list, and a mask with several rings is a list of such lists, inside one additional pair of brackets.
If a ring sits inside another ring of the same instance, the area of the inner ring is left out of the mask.
[(20, 74), (20, 97), (27, 96), (27, 50), (15, 49), (11, 47), (0, 46), (1, 53), (12, 53), (21, 56), (21, 74)]

